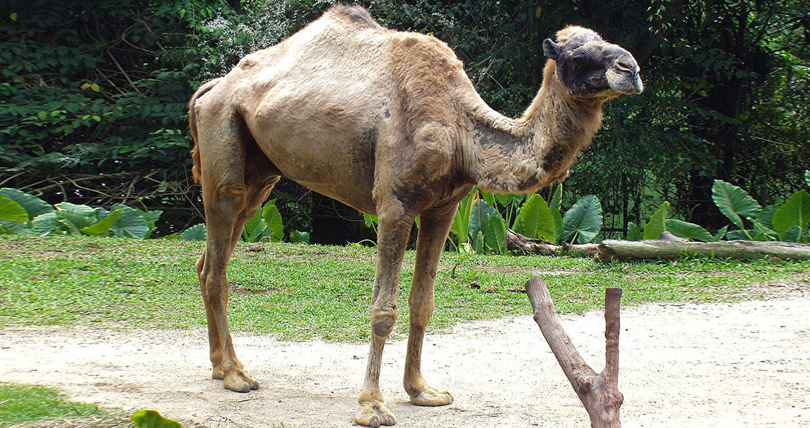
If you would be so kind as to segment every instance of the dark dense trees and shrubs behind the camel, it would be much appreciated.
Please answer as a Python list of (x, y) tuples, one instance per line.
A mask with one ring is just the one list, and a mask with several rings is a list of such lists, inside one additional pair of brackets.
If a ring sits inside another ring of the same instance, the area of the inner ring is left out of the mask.
[[(51, 203), (164, 210), (158, 234), (202, 222), (187, 100), (332, 4), (2, 2), (0, 187)], [(718, 228), (726, 221), (711, 201), (715, 178), (769, 204), (810, 169), (810, 0), (360, 4), (390, 28), (445, 40), (484, 100), (513, 117), (539, 89), (543, 40), (566, 24), (629, 49), (646, 91), (608, 103), (565, 183), (565, 206), (599, 197), (608, 235), (643, 224), (663, 200)], [(288, 180), (272, 197), (286, 228), (312, 231), (313, 242), (361, 239), (362, 218), (345, 206)]]

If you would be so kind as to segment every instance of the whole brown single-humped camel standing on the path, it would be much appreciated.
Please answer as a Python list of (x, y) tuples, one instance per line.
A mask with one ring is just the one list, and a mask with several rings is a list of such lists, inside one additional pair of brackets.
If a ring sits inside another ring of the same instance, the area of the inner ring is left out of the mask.
[(481, 99), (447, 44), (382, 28), (360, 6), (334, 6), (203, 84), (189, 119), (207, 225), (197, 272), (213, 378), (237, 392), (259, 388), (233, 350), (225, 268), (245, 221), (285, 176), (379, 216), (368, 367), (355, 422), (396, 423), (379, 375), (417, 214), (403, 386), (415, 405), (452, 403), (450, 392), (428, 386), (421, 354), (458, 201), (474, 185), (533, 193), (564, 180), (593, 141), (604, 102), (642, 91), (633, 56), (589, 29), (565, 28), (556, 41), (544, 40), (543, 50), (542, 87), (518, 119)]

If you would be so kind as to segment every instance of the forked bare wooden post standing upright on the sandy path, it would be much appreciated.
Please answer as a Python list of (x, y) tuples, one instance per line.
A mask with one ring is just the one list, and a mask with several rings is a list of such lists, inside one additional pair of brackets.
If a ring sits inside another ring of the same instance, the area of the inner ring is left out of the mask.
[(621, 289), (605, 290), (605, 368), (599, 375), (587, 365), (565, 334), (554, 311), (552, 296), (543, 278), (531, 278), (526, 294), (535, 312), (535, 322), (548, 341), (565, 377), (590, 416), (592, 428), (619, 428), (619, 408), (624, 396), (619, 392), (619, 308)]

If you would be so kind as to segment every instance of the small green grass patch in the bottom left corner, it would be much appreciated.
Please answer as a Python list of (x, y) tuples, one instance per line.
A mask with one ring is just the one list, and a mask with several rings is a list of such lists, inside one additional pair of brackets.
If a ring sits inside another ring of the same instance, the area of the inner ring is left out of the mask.
[(41, 419), (96, 417), (104, 411), (96, 405), (68, 401), (52, 388), (0, 384), (0, 427)]

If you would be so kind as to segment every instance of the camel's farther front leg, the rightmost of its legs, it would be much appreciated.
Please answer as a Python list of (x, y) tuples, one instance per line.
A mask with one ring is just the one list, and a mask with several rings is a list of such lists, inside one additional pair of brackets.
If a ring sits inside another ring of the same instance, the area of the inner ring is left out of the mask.
[(407, 340), (405, 359), (405, 391), (415, 405), (449, 405), (453, 402), (450, 392), (428, 386), (422, 376), (422, 341), (424, 329), (433, 315), (433, 290), (441, 251), (455, 216), (455, 207), (441, 211), (424, 211), (421, 216), (419, 236), (416, 240), (416, 263), (413, 286), (408, 306), (411, 310), (411, 325)]

